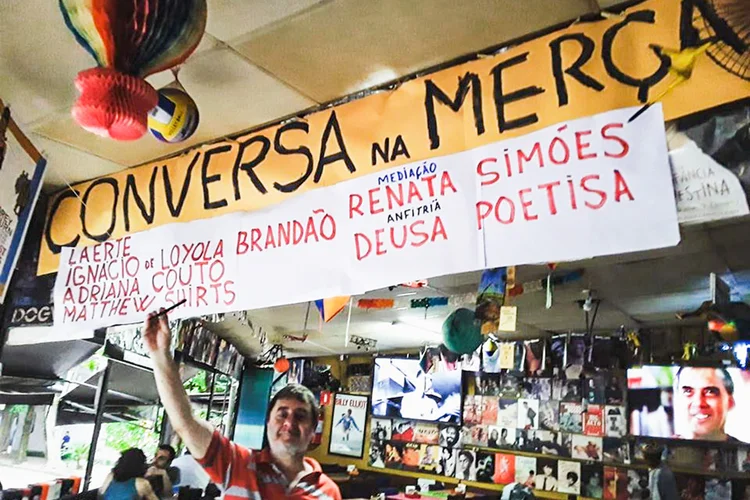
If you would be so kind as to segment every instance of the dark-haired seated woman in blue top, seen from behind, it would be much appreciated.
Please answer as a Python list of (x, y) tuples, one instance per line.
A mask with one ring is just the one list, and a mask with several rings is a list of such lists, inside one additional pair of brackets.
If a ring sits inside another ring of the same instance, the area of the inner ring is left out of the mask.
[(146, 475), (146, 455), (138, 448), (122, 453), (99, 489), (102, 500), (158, 500)]

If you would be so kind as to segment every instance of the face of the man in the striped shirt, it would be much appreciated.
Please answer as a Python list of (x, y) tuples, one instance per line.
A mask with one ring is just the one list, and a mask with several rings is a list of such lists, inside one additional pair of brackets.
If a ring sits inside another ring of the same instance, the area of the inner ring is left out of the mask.
[(315, 435), (310, 405), (296, 399), (278, 400), (271, 409), (266, 431), (275, 454), (304, 453)]

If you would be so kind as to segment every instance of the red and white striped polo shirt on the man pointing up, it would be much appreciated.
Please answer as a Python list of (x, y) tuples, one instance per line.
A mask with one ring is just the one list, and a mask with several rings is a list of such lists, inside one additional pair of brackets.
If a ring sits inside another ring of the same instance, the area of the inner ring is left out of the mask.
[(218, 432), (214, 432), (206, 456), (198, 462), (211, 481), (222, 485), (225, 500), (341, 500), (339, 487), (312, 458), (305, 457), (311, 472), (292, 483), (272, 462), (267, 449), (248, 450)]

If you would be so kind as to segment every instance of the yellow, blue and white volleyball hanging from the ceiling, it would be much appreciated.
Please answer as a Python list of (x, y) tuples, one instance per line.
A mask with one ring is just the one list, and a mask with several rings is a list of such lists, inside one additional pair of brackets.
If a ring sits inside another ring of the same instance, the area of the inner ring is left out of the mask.
[(167, 87), (158, 91), (159, 101), (148, 115), (148, 129), (162, 142), (182, 142), (198, 128), (198, 106), (184, 90)]

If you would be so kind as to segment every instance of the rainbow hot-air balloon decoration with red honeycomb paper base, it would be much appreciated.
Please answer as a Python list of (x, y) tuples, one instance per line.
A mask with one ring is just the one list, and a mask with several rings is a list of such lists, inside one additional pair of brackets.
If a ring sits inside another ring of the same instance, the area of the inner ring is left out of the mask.
[(72, 114), (84, 129), (128, 141), (147, 130), (158, 102), (144, 80), (192, 54), (206, 29), (206, 0), (59, 0), (76, 41), (96, 68), (78, 74)]

